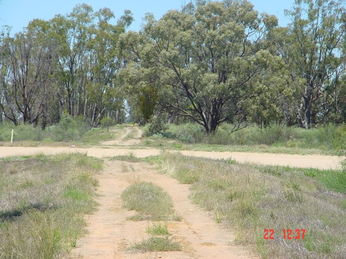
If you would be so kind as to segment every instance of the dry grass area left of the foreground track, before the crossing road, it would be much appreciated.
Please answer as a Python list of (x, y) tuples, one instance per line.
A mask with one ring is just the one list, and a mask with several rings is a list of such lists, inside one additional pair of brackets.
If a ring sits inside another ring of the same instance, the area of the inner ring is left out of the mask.
[(63, 258), (95, 210), (102, 160), (85, 154), (0, 160), (0, 258)]

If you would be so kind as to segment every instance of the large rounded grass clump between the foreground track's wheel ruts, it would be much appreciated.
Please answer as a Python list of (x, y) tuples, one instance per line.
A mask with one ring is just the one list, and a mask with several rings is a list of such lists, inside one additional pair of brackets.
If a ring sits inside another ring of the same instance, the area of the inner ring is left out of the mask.
[(124, 207), (135, 210), (130, 220), (162, 221), (174, 218), (173, 201), (161, 187), (148, 182), (130, 185), (121, 195)]

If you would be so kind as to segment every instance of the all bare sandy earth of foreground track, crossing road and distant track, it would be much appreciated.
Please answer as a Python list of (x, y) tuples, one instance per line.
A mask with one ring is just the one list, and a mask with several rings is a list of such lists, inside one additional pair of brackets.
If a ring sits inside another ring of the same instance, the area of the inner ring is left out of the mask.
[[(128, 138), (132, 129), (137, 133)], [(89, 156), (106, 158), (126, 155), (130, 151), (137, 157), (160, 154), (159, 149), (127, 149), (114, 147), (130, 146), (140, 142), (142, 132), (136, 127), (126, 128), (126, 133), (114, 141), (101, 143), (107, 148), (68, 148), (68, 147), (0, 147), (0, 157), (11, 155), (31, 155), (36, 153), (55, 154), (60, 152), (85, 152)], [(113, 146), (113, 147), (112, 147)], [(177, 151), (171, 151), (177, 152)], [(268, 165), (288, 165), (292, 167), (315, 167), (320, 169), (339, 168), (339, 157), (326, 155), (290, 155), (248, 152), (205, 152), (180, 151), (184, 155), (229, 158), (239, 162), (252, 162)], [(169, 222), (169, 231), (176, 241), (183, 245), (181, 252), (130, 253), (127, 248), (135, 242), (148, 238), (145, 228), (149, 222), (127, 221), (133, 215), (122, 208), (121, 192), (139, 178), (153, 182), (167, 191), (174, 202), (174, 210), (181, 216), (181, 222)], [(97, 197), (99, 208), (87, 216), (89, 234), (78, 241), (77, 247), (68, 258), (85, 259), (244, 259), (256, 258), (246, 248), (233, 244), (234, 233), (219, 227), (213, 215), (192, 204), (189, 200), (189, 185), (181, 185), (168, 175), (158, 173), (146, 163), (105, 161), (105, 168), (98, 176), (100, 194)]]

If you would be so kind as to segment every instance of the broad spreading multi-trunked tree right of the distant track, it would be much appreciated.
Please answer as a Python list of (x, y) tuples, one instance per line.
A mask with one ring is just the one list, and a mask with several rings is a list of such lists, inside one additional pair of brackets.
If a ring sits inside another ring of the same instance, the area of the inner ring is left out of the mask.
[(282, 85), (275, 75), (281, 59), (266, 39), (277, 19), (259, 15), (246, 0), (199, 1), (158, 21), (145, 19), (140, 33), (122, 37), (129, 51), (124, 83), (157, 86), (162, 109), (189, 117), (208, 134), (223, 121), (235, 123), (233, 130), (245, 127), (247, 104), (269, 84)]

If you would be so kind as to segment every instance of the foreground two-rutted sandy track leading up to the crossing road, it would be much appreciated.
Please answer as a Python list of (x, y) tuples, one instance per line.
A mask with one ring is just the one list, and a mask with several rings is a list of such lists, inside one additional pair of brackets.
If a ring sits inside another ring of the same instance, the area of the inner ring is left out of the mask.
[[(234, 236), (219, 228), (208, 213), (191, 204), (189, 185), (178, 184), (165, 174), (159, 174), (145, 163), (132, 163), (133, 171), (122, 172), (120, 168), (130, 163), (106, 161), (105, 169), (99, 176), (97, 199), (99, 210), (88, 216), (89, 234), (78, 241), (70, 258), (85, 259), (245, 259), (251, 257), (239, 246), (232, 245)], [(176, 241), (183, 245), (181, 252), (129, 253), (126, 249), (134, 242), (148, 237), (145, 227), (149, 222), (127, 221), (132, 215), (122, 208), (121, 192), (130, 185), (133, 175), (139, 180), (153, 182), (166, 190), (174, 202), (174, 209), (182, 217), (181, 222), (169, 222), (169, 230)]]

